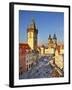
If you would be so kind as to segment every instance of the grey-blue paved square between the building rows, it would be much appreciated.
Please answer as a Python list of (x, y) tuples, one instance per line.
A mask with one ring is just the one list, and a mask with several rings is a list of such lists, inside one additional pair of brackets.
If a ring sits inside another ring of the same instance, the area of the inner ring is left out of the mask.
[(31, 70), (20, 75), (20, 79), (49, 78), (52, 77), (53, 68), (49, 64), (49, 57), (41, 57)]

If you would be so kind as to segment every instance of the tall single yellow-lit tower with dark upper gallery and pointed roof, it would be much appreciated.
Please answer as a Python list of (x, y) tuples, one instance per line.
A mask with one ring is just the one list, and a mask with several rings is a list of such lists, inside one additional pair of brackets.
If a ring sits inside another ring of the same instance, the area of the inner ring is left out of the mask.
[(32, 50), (37, 50), (37, 34), (38, 30), (34, 19), (32, 19), (30, 25), (27, 27), (27, 42)]

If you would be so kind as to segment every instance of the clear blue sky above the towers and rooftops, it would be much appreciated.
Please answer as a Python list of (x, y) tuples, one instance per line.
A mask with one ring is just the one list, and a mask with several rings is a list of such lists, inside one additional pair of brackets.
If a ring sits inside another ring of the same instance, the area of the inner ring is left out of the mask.
[(38, 28), (38, 44), (48, 43), (49, 34), (57, 36), (58, 42), (64, 41), (64, 13), (45, 11), (19, 11), (19, 42), (27, 43), (27, 26), (35, 20)]

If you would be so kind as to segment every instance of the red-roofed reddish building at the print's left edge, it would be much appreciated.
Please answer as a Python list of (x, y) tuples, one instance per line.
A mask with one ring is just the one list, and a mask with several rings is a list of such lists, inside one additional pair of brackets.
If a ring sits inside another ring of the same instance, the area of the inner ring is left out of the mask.
[(30, 52), (31, 48), (28, 44), (19, 44), (19, 74), (22, 74), (23, 72), (27, 71), (27, 61), (26, 61), (26, 55), (28, 52)]

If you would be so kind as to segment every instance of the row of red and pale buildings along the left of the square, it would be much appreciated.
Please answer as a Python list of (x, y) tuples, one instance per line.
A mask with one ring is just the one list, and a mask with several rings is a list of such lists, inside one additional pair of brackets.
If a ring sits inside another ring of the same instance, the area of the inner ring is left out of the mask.
[(19, 44), (19, 74), (30, 70), (38, 60), (38, 52), (31, 50), (28, 44)]

